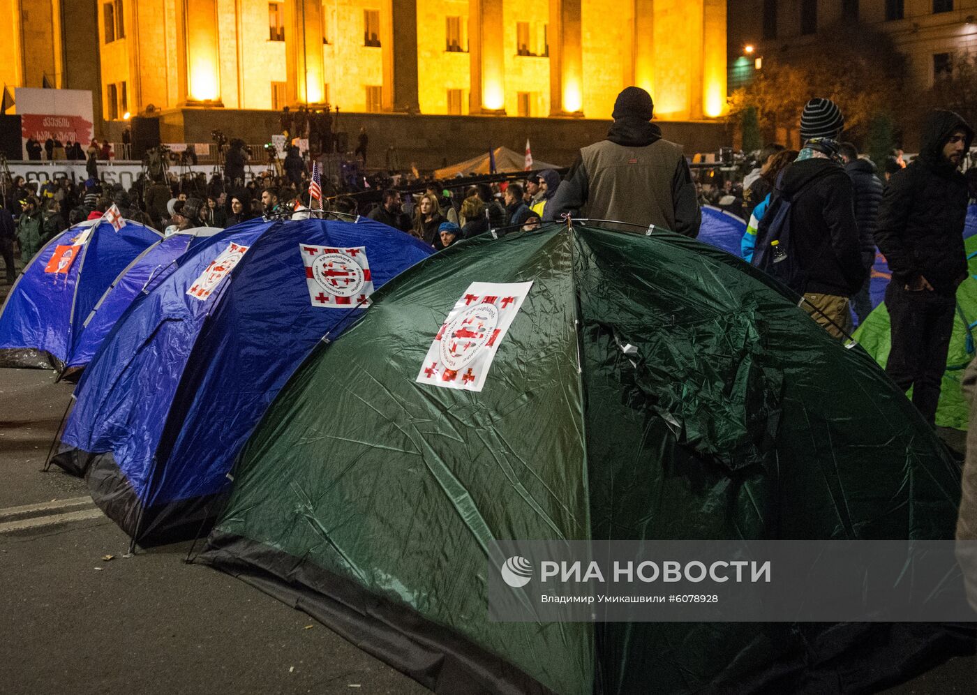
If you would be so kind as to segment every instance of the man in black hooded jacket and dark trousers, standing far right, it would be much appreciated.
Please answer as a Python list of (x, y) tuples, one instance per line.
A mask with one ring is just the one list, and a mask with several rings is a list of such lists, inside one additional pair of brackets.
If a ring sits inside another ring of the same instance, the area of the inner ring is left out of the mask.
[(875, 232), (892, 271), (885, 289), (892, 330), (885, 371), (899, 388), (913, 387), (913, 405), (930, 424), (947, 369), (956, 287), (967, 277), (967, 182), (958, 167), (973, 135), (953, 111), (933, 111), (919, 155), (889, 181)]

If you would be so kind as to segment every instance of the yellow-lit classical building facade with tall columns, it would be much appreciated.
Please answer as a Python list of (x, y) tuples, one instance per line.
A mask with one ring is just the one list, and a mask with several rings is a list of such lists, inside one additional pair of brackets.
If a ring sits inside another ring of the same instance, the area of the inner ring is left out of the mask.
[(726, 0), (0, 0), (0, 13), (15, 27), (8, 86), (67, 86), (76, 21), (96, 20), (106, 120), (300, 104), (607, 118), (628, 84), (664, 119), (725, 108)]

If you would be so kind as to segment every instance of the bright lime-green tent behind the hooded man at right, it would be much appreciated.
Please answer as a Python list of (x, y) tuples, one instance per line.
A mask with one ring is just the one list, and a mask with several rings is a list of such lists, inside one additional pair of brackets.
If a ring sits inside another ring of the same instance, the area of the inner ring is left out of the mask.
[[(956, 289), (956, 323), (947, 354), (947, 370), (943, 374), (940, 405), (936, 424), (966, 430), (970, 407), (960, 390), (960, 379), (974, 357), (973, 331), (977, 329), (977, 237), (964, 239), (969, 277)], [(853, 337), (882, 367), (889, 360), (892, 347), (889, 331), (889, 312), (885, 303), (879, 304), (858, 327)]]

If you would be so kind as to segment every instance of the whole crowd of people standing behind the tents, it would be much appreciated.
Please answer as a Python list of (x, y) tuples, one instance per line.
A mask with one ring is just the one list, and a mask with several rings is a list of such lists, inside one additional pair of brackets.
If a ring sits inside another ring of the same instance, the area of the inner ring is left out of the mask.
[[(230, 227), (255, 217), (309, 216), (318, 207), (367, 216), (440, 250), (488, 230), (531, 229), (544, 220), (584, 213), (695, 237), (701, 204), (719, 204), (749, 221), (743, 257), (803, 296), (801, 306), (837, 336), (851, 331), (850, 305), (859, 320), (871, 311), (871, 265), (876, 246), (882, 251), (893, 279), (886, 290), (892, 317), (887, 369), (897, 384), (913, 387), (913, 402), (932, 422), (956, 285), (966, 277), (961, 234), (970, 190), (960, 166), (973, 140), (970, 126), (950, 111), (935, 112), (913, 162), (907, 166), (902, 152), (893, 152), (878, 176), (874, 164), (842, 140), (838, 105), (813, 99), (799, 114), (800, 150), (771, 144), (758, 152), (755, 166), (743, 167), (742, 180), (726, 177), (713, 184), (714, 174), (698, 176), (681, 146), (661, 137), (653, 114), (647, 92), (623, 90), (607, 138), (581, 149), (562, 179), (546, 170), (505, 181), (472, 185), (456, 179), (447, 186), (423, 186), (406, 176), (401, 190), (387, 186), (379, 195), (367, 189), (366, 195), (311, 200), (310, 171), (296, 147), (288, 148), (281, 166), (245, 183), (248, 157), (241, 141), (231, 141), (221, 172), (178, 176), (150, 163), (129, 190), (96, 176), (40, 187), (18, 177), (6, 186), (0, 250), (12, 281), (15, 244), (25, 262), (66, 227), (102, 216), (111, 205), (161, 232)], [(333, 146), (329, 119), (328, 111), (300, 109), (284, 111), (281, 125), (286, 135), (324, 135), (318, 149), (328, 151)], [(365, 158), (367, 139), (361, 135), (358, 149)], [(38, 153), (39, 143), (28, 146)], [(53, 143), (49, 156), (57, 158), (58, 150)], [(105, 148), (96, 143), (88, 149), (89, 158), (103, 155)], [(620, 165), (622, 156), (627, 166)]]

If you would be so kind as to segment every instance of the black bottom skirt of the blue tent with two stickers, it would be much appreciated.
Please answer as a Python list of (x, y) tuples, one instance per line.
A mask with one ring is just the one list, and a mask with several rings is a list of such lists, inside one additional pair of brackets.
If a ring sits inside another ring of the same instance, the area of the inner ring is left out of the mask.
[(192, 541), (210, 532), (223, 495), (143, 506), (111, 452), (92, 454), (65, 449), (51, 461), (72, 475), (84, 476), (92, 500), (142, 547)]

